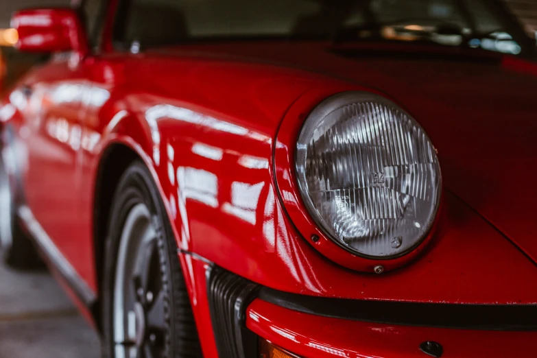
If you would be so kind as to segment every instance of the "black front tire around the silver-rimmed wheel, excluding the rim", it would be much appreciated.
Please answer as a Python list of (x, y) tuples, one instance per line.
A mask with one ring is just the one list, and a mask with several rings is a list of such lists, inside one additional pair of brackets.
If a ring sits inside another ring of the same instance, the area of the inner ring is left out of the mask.
[[(160, 342), (161, 339), (158, 339), (158, 344), (163, 344), (165, 348), (162, 350), (163, 354), (156, 356), (167, 358), (203, 357), (198, 331), (195, 327), (189, 295), (187, 293), (187, 287), (184, 283), (184, 276), (182, 274), (180, 262), (178, 261), (177, 245), (174, 239), (174, 234), (168, 222), (167, 215), (165, 214), (163, 202), (160, 199), (160, 193), (158, 193), (158, 190), (156, 189), (150, 171), (140, 161), (135, 161), (132, 163), (132, 165), (130, 165), (130, 167), (128, 167), (128, 169), (126, 169), (125, 173), (119, 180), (118, 187), (112, 200), (110, 221), (108, 224), (108, 235), (105, 246), (105, 270), (102, 281), (102, 323), (104, 333), (103, 355), (104, 357), (110, 358), (117, 357), (117, 355), (115, 355), (115, 326), (113, 321), (115, 312), (117, 311), (117, 308), (115, 311), (116, 306), (114, 303), (116, 283), (115, 277), (116, 270), (118, 270), (118, 265), (121, 265), (121, 263), (117, 263), (119, 258), (118, 254), (121, 237), (123, 232), (126, 230), (126, 220), (128, 217), (130, 217), (129, 215), (132, 214), (134, 208), (138, 208), (139, 206), (147, 207), (148, 213), (151, 215), (151, 225), (155, 228), (156, 248), (153, 250), (155, 250), (158, 254), (157, 262), (160, 263), (160, 265), (158, 266), (159, 269), (157, 272), (158, 274), (161, 274), (162, 277), (160, 279), (155, 278), (154, 281), (161, 283), (160, 290), (164, 295), (166, 295), (165, 301), (167, 302), (164, 305), (165, 315), (163, 316), (163, 319), (165, 320), (165, 330), (167, 330), (167, 332), (163, 335), (163, 342)], [(132, 228), (131, 232), (134, 232)], [(126, 236), (123, 236), (123, 240), (126, 240)], [(128, 239), (126, 241), (132, 240), (133, 239)], [(127, 247), (129, 246), (127, 245)], [(143, 250), (145, 250), (145, 247), (140, 244), (138, 251), (142, 252)], [(136, 261), (136, 263), (138, 263), (139, 261), (145, 260), (145, 258), (147, 258), (147, 254), (143, 254), (143, 256), (140, 257), (143, 257), (144, 259), (129, 260)], [(149, 259), (148, 261), (151, 260), (152, 259)], [(147, 266), (149, 265), (152, 264), (148, 263)], [(132, 264), (132, 266), (134, 267), (134, 264)], [(121, 272), (124, 272), (124, 270)], [(154, 271), (151, 270), (148, 270), (147, 272), (149, 272), (147, 276), (150, 276), (151, 273), (154, 273)], [(153, 276), (151, 277), (153, 278)], [(128, 279), (126, 278), (125, 280), (127, 282)], [(136, 291), (136, 288), (133, 288), (134, 291)], [(149, 289), (147, 290), (149, 291)], [(126, 291), (130, 291), (130, 289)], [(122, 295), (126, 296), (127, 294)], [(134, 294), (134, 296), (136, 296), (136, 294)], [(145, 297), (145, 294), (142, 296)], [(123, 311), (126, 311), (126, 309)], [(125, 312), (123, 312), (123, 314), (124, 313)], [(123, 317), (125, 316), (123, 315)], [(144, 326), (145, 320), (146, 319), (144, 318)], [(123, 326), (125, 326), (124, 319)], [(136, 330), (138, 329), (139, 326), (138, 323), (136, 323)], [(147, 335), (147, 331), (149, 330), (150, 328), (143, 329), (145, 335)], [(125, 329), (123, 329), (123, 332), (124, 331)], [(137, 335), (138, 333), (136, 333), (136, 336)], [(154, 335), (152, 338), (152, 344), (154, 344)], [(136, 340), (138, 340), (138, 337), (136, 337)], [(143, 348), (138, 348), (138, 344), (141, 343), (137, 342), (136, 348), (134, 349), (143, 350)], [(120, 350), (123, 352), (125, 348), (120, 348)], [(145, 357), (145, 355), (142, 355), (142, 357)]]

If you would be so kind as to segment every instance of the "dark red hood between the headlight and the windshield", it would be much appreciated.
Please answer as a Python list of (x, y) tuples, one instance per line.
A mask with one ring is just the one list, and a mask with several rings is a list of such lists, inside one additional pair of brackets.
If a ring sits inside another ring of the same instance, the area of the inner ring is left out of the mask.
[(386, 93), (429, 133), (444, 188), (537, 262), (536, 65), (453, 49), (405, 53), (318, 43), (226, 43), (186, 50), (191, 49), (300, 67)]

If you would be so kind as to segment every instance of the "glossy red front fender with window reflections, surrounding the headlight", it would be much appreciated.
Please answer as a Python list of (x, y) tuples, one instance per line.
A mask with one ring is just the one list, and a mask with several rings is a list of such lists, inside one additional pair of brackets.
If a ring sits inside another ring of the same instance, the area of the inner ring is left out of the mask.
[[(154, 168), (180, 248), (262, 285), (315, 296), (535, 301), (537, 289), (521, 284), (537, 278), (535, 266), (449, 193), (444, 193), (446, 208), (434, 245), (396, 272), (376, 276), (346, 270), (327, 261), (298, 235), (278, 200), (271, 173), (278, 121), (309, 88), (324, 86), (336, 93), (357, 88), (352, 84), (304, 71), (218, 62), (199, 55), (170, 58), (145, 53), (99, 61), (108, 63), (102, 65), (104, 69), (122, 73), (117, 77), (128, 91), (125, 97), (110, 95), (113, 100), (98, 111), (95, 108), (95, 117), (88, 112), (88, 123), (95, 125), (87, 130), (100, 139), (93, 152), (86, 153), (82, 177), (92, 178), (108, 144), (119, 139), (132, 143)], [(208, 83), (206, 79), (211, 85), (200, 85)], [(176, 86), (179, 83), (182, 86)], [(95, 81), (93, 86), (107, 88), (104, 82)], [(147, 88), (152, 88), (151, 95)], [(265, 107), (269, 102), (272, 106)], [(85, 185), (83, 195), (89, 197), (93, 187), (90, 182)], [(87, 230), (81, 230), (80, 242), (89, 245), (92, 201), (84, 202), (82, 221), (88, 224), (82, 226)], [(492, 277), (508, 289), (490, 290)]]

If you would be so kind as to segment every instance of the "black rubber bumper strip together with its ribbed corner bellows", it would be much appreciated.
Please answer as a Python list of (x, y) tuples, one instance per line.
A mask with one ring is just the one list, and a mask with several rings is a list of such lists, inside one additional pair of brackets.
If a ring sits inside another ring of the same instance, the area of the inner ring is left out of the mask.
[(537, 305), (464, 305), (355, 300), (277, 291), (211, 264), (206, 272), (213, 331), (220, 357), (256, 357), (257, 336), (246, 309), (259, 298), (279, 307), (339, 320), (477, 331), (537, 331)]

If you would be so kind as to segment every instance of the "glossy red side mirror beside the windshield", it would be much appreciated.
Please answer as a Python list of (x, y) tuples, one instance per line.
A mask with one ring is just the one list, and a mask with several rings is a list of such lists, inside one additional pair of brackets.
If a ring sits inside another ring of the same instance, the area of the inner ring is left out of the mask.
[(73, 9), (20, 10), (13, 14), (11, 26), (19, 33), (15, 47), (20, 51), (88, 53), (86, 31)]

